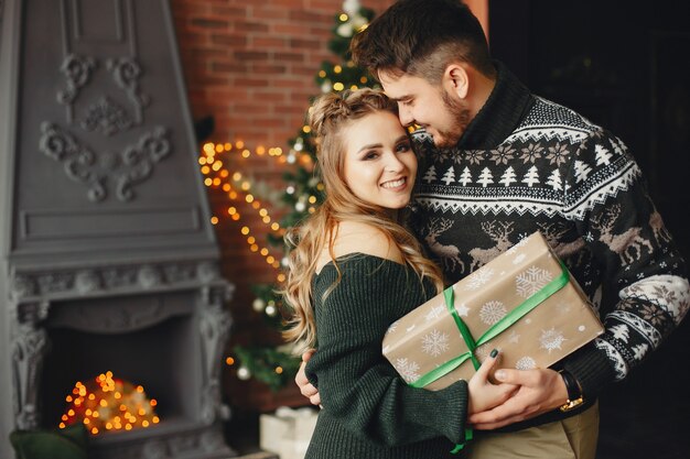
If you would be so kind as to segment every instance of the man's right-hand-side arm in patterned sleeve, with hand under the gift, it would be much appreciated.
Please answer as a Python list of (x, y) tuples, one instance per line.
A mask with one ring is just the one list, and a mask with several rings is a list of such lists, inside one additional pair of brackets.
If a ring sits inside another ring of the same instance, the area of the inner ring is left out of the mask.
[[(690, 286), (640, 171), (618, 139), (593, 133), (573, 159), (564, 190), (564, 216), (602, 266), (606, 286), (618, 292), (613, 307), (602, 305), (605, 334), (564, 360), (584, 396), (594, 397), (623, 380), (678, 326), (690, 305)], [(503, 374), (502, 381), (520, 384), (520, 390), (504, 405), (471, 416), (475, 428), (497, 428), (549, 412), (559, 406), (559, 391), (563, 403), (564, 385), (552, 370)]]

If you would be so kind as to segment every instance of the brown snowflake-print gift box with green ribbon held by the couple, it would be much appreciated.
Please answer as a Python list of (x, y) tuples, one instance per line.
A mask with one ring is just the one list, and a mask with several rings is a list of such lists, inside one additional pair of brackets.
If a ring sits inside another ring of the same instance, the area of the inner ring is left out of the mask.
[(492, 349), (499, 368), (547, 368), (603, 331), (536, 232), (393, 323), (382, 353), (408, 384), (439, 390), (470, 380)]

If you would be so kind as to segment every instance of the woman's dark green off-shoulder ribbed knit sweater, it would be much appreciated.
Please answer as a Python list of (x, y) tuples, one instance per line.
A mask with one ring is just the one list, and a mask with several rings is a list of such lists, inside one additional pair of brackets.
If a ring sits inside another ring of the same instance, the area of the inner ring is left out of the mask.
[(388, 326), (435, 294), (407, 266), (374, 255), (337, 260), (313, 281), (319, 350), (306, 374), (321, 394), (306, 459), (438, 459), (464, 438), (467, 384), (408, 386), (381, 356)]

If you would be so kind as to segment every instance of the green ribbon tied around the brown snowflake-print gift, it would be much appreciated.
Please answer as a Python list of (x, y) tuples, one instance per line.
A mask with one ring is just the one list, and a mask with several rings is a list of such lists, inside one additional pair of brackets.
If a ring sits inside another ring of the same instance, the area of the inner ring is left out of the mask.
[(559, 260), (559, 263), (561, 265), (561, 274), (558, 277), (545, 285), (543, 288), (541, 288), (539, 292), (535, 293), (529, 298), (524, 300), (518, 307), (509, 312), (503, 319), (490, 326), (477, 340), (474, 340), (472, 334), (470, 332), (470, 329), (467, 328), (463, 319), (460, 318), (460, 315), (455, 309), (453, 287), (450, 286), (444, 289), (443, 297), (445, 299), (445, 306), (451, 313), (451, 316), (453, 316), (453, 320), (455, 320), (455, 325), (457, 326), (457, 329), (460, 330), (460, 334), (462, 335), (463, 340), (467, 346), (467, 351), (421, 375), (417, 381), (410, 383), (410, 385), (412, 387), (424, 387), (432, 382), (439, 380), (440, 378), (445, 376), (448, 373), (462, 365), (466, 360), (472, 360), (474, 369), (478, 369), (481, 363), (474, 354), (476, 348), (484, 345), (485, 342), (490, 341), (496, 336), (503, 334), (506, 329), (508, 329), (519, 319), (525, 317), (529, 312), (543, 303), (548, 297), (568, 285), (568, 281), (570, 280), (568, 269), (562, 261)]

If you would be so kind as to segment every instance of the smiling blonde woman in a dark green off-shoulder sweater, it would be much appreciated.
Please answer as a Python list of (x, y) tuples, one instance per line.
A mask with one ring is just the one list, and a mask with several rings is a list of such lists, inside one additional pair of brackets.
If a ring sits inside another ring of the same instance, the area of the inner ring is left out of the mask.
[(438, 269), (396, 222), (409, 201), (417, 157), (397, 106), (382, 92), (325, 95), (310, 110), (326, 199), (288, 240), (285, 338), (317, 347), (306, 367), (323, 401), (306, 458), (442, 458), (464, 440), (468, 414), (505, 401), (513, 386), (487, 374), (412, 389), (381, 356), (387, 327), (442, 288)]

